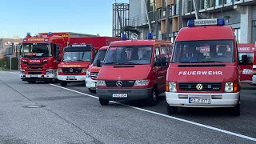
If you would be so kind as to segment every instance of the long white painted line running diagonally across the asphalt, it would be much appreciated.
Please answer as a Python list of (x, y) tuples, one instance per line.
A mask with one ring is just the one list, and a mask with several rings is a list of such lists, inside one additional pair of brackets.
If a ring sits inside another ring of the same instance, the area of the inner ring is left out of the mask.
[[(58, 85), (54, 85), (54, 84), (50, 84), (50, 85), (51, 85), (51, 86), (57, 86), (57, 87), (59, 87), (59, 88), (65, 89), (65, 90), (70, 90), (70, 89), (68, 89), (68, 88), (66, 88), (66, 87), (62, 87), (62, 86), (58, 86)], [(94, 95), (85, 94), (85, 93), (82, 93), (82, 92), (77, 91), (77, 90), (70, 90), (70, 91), (73, 91), (73, 92), (78, 93), (78, 94), (83, 94), (83, 95), (89, 96), (89, 97), (91, 97), (91, 98), (98, 98), (98, 97), (96, 97), (96, 96), (94, 96)], [(249, 137), (249, 136), (246, 136), (246, 135), (242, 135), (242, 134), (237, 134), (237, 133), (234, 133), (234, 132), (231, 132), (231, 131), (228, 131), (228, 130), (218, 129), (218, 128), (213, 127), (213, 126), (207, 126), (207, 125), (204, 125), (204, 124), (201, 124), (201, 123), (198, 123), (198, 122), (192, 122), (192, 121), (188, 121), (188, 120), (186, 120), (186, 119), (176, 118), (176, 117), (173, 117), (173, 116), (170, 116), (170, 115), (161, 114), (161, 113), (154, 112), (154, 111), (151, 111), (151, 110), (142, 109), (142, 108), (139, 108), (139, 107), (136, 107), (136, 106), (129, 106), (129, 105), (126, 105), (126, 104), (122, 104), (122, 103), (120, 103), (120, 102), (113, 102), (113, 101), (110, 101), (110, 102), (116, 103), (116, 104), (119, 104), (119, 105), (122, 105), (122, 106), (127, 106), (127, 107), (130, 107), (130, 108), (136, 109), (136, 110), (142, 110), (142, 111), (147, 112), (147, 113), (150, 113), (150, 114), (157, 114), (157, 115), (160, 115), (160, 116), (162, 116), (162, 117), (175, 119), (175, 120), (178, 120), (178, 121), (181, 121), (181, 122), (190, 123), (190, 124), (192, 124), (192, 125), (201, 126), (201, 127), (206, 128), (206, 129), (216, 130), (216, 131), (219, 131), (219, 132), (222, 132), (222, 133), (225, 133), (225, 134), (234, 135), (234, 136), (237, 136), (237, 137), (240, 137), (240, 138), (245, 138), (245, 139), (248, 139), (248, 140), (251, 140), (251, 141), (255, 141), (255, 142), (256, 142), (256, 138), (252, 138), (252, 137)]]

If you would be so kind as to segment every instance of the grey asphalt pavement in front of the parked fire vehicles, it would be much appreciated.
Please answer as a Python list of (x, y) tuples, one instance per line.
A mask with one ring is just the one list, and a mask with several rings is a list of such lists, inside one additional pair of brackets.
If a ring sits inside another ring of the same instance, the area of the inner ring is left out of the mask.
[(29, 84), (0, 71), (0, 143), (256, 143), (256, 90), (242, 90), (241, 116), (227, 109), (166, 112), (142, 101), (101, 106), (84, 84)]

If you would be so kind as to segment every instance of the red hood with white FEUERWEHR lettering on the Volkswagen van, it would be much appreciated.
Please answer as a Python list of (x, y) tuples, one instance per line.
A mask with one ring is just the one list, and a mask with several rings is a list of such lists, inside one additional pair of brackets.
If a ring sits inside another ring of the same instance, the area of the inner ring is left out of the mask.
[(234, 65), (206, 67), (169, 67), (169, 82), (234, 82), (238, 76)]

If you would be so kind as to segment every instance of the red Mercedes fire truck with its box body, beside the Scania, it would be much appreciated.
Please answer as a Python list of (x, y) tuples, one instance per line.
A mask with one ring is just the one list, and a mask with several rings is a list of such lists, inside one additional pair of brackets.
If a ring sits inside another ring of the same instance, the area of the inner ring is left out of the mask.
[(120, 40), (114, 37), (70, 38), (64, 49), (62, 62), (58, 64), (58, 81), (62, 86), (70, 82), (85, 82), (86, 70), (102, 46)]

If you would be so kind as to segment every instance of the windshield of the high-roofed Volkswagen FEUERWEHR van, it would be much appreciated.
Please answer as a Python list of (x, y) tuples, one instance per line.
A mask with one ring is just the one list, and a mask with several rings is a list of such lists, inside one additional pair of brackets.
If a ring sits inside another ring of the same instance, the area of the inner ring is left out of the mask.
[(234, 62), (232, 40), (176, 42), (172, 62)]

